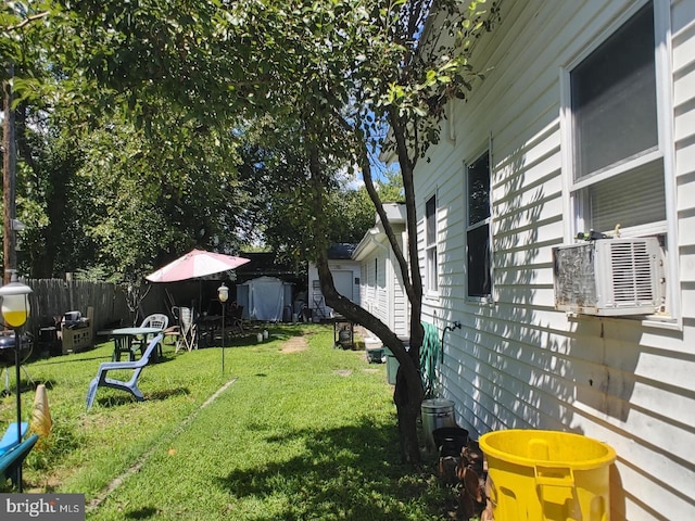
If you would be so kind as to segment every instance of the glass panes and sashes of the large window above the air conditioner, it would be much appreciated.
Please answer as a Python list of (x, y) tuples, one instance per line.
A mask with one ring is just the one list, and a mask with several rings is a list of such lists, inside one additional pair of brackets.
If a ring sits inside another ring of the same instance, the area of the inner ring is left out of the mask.
[(577, 231), (666, 231), (652, 2), (569, 75)]

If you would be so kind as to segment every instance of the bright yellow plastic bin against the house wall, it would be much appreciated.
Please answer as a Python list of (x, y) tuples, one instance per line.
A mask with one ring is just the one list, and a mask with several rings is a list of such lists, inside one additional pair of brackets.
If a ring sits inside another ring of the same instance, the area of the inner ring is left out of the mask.
[(480, 437), (495, 521), (608, 521), (616, 452), (581, 434), (495, 431)]

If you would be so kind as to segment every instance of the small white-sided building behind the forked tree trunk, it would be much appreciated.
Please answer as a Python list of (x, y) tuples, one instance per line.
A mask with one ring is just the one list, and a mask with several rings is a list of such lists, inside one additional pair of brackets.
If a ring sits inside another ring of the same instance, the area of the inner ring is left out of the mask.
[[(399, 239), (399, 245), (405, 252), (405, 205), (387, 203), (383, 208)], [(374, 228), (367, 230), (357, 244), (353, 259), (359, 263), (363, 274), (359, 305), (389, 326), (399, 336), (407, 336), (409, 304), (399, 264), (378, 216)]]

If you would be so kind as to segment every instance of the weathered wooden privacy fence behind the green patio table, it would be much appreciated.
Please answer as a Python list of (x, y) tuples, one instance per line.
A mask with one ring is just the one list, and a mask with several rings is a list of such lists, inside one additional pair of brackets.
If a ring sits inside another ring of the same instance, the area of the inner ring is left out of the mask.
[(31, 313), (26, 330), (35, 338), (38, 338), (39, 328), (53, 323), (53, 317), (62, 317), (73, 310), (86, 317), (88, 307), (94, 308), (94, 332), (115, 321), (128, 321), (126, 295), (116, 284), (70, 279), (20, 280), (34, 290), (29, 295)]

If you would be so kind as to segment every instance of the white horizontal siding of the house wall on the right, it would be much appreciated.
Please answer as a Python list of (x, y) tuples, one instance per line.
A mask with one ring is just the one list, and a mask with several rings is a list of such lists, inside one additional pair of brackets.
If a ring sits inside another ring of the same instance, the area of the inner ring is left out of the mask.
[[(657, 0), (664, 1), (664, 0)], [(666, 0), (668, 1), (668, 0)], [(438, 196), (439, 291), (424, 320), (447, 332), (443, 395), (472, 435), (507, 428), (606, 441), (612, 520), (695, 519), (695, 2), (671, 2), (681, 323), (570, 317), (554, 309), (552, 247), (566, 242), (560, 68), (632, 1), (503, 2), (477, 49), (488, 67), (416, 171), (420, 265), (425, 202)], [(447, 132), (448, 134), (448, 132)], [(466, 298), (464, 162), (492, 138), (493, 303)], [(639, 211), (639, 208), (636, 209)]]

